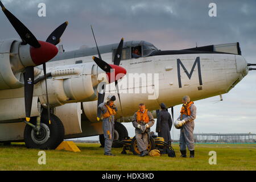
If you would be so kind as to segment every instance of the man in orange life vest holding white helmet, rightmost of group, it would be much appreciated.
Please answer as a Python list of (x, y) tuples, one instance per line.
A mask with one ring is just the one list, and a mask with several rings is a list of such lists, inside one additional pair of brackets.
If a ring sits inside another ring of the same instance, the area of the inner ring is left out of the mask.
[(189, 96), (182, 98), (183, 105), (180, 110), (180, 116), (175, 121), (175, 127), (180, 128), (180, 152), (181, 157), (187, 157), (187, 148), (190, 151), (190, 158), (195, 158), (195, 145), (193, 131), (196, 119), (196, 106), (191, 102)]

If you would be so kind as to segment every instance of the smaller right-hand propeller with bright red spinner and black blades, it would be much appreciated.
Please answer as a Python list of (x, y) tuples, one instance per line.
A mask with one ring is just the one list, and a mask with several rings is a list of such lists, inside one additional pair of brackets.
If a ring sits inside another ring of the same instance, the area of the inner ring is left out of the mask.
[[(121, 62), (121, 58), (122, 58), (122, 49), (123, 49), (123, 38), (121, 39), (121, 42), (119, 43), (119, 46), (117, 48), (117, 52), (115, 53), (115, 57), (114, 57), (114, 65), (112, 64), (108, 64), (106, 63), (104, 60), (101, 59), (101, 54), (100, 51), (98, 49), (98, 45), (97, 45), (97, 41), (93, 32), (93, 27), (92, 28), (92, 33), (93, 33), (93, 38), (94, 38), (94, 42), (96, 43), (96, 47), (97, 47), (97, 52), (98, 52), (98, 57), (93, 56), (93, 60), (95, 61), (95, 63), (98, 65), (98, 67), (100, 67), (103, 71), (106, 72), (106, 74), (108, 75), (109, 78), (109, 82), (113, 82), (110, 77), (110, 72), (112, 71), (112, 69), (115, 70), (115, 88), (117, 89), (117, 94), (118, 94), (118, 98), (119, 98), (119, 103), (120, 103), (120, 107), (121, 107), (121, 111), (122, 111), (122, 106), (121, 106), (121, 100), (120, 100), (120, 95), (119, 95), (119, 89), (118, 89), (118, 80), (116, 79), (116, 76), (119, 73), (123, 73), (124, 75), (126, 74), (126, 70), (122, 67), (119, 67), (119, 64)], [(98, 101), (97, 101), (97, 121), (100, 121), (100, 115), (101, 115), (101, 110), (98, 109), (98, 106), (104, 102), (104, 98), (105, 98), (105, 87), (106, 87), (106, 82), (101, 82), (101, 85), (98, 86), (98, 88), (100, 88), (100, 90), (98, 90)]]

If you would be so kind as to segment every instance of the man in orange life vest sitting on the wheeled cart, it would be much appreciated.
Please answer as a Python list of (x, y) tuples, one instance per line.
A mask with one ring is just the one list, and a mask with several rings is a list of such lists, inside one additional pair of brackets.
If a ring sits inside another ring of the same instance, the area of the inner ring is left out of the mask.
[(148, 154), (147, 146), (150, 139), (150, 127), (154, 123), (155, 120), (152, 113), (146, 109), (144, 104), (139, 104), (139, 110), (133, 115), (133, 126), (135, 127), (135, 136), (141, 156)]

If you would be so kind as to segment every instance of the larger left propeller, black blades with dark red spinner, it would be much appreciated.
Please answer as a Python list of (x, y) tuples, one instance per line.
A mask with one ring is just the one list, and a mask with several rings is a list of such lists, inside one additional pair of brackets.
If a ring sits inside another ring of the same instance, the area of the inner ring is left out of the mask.
[[(57, 55), (58, 49), (55, 46), (60, 42), (60, 36), (63, 34), (65, 27), (67, 27), (67, 22), (62, 24), (60, 27), (56, 28), (55, 31), (47, 39), (47, 42), (39, 41), (35, 38), (30, 30), (18, 18), (10, 13), (9, 10), (0, 1), (0, 6), (2, 7), (3, 13), (6, 15), (9, 22), (12, 24), (20, 38), (22, 39), (22, 45), (30, 45), (30, 57), (32, 60), (32, 65), (24, 65), (25, 71), (24, 76), (24, 99), (25, 99), (25, 112), (26, 121), (30, 121), (32, 98), (34, 90), (34, 67), (40, 64), (44, 66), (44, 76), (46, 78), (46, 62), (51, 60)], [(54, 38), (53, 38), (54, 37)], [(56, 39), (55, 39), (56, 38)], [(47, 89), (46, 89), (47, 90)], [(48, 105), (48, 94), (47, 94), (47, 105)], [(48, 109), (49, 110), (49, 109)], [(48, 112), (49, 117), (49, 112)]]

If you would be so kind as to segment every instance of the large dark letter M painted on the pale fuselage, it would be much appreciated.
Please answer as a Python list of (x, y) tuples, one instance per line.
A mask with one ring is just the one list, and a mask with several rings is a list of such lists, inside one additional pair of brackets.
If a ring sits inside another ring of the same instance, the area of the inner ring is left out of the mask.
[(179, 81), (179, 88), (182, 88), (182, 85), (181, 85), (181, 75), (180, 75), (180, 66), (183, 68), (183, 70), (185, 71), (186, 75), (188, 76), (188, 78), (190, 80), (191, 77), (192, 77), (193, 71), (194, 71), (194, 69), (196, 67), (196, 64), (197, 64), (197, 69), (198, 69), (199, 84), (203, 85), (202, 75), (201, 75), (201, 66), (200, 66), (200, 57), (196, 57), (195, 63), (193, 64), (193, 67), (192, 67), (190, 73), (188, 73), (187, 69), (181, 63), (180, 59), (177, 59), (177, 77), (178, 77), (178, 81)]

